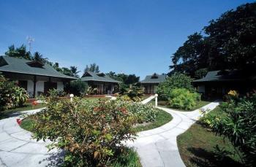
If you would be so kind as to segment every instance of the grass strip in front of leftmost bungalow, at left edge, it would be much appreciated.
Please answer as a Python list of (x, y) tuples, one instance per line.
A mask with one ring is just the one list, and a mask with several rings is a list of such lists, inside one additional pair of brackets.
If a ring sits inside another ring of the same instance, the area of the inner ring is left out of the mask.
[(32, 106), (31, 103), (26, 103), (26, 104), (24, 104), (24, 106), (18, 107), (16, 109), (7, 109), (7, 110), (0, 112), (0, 120), (10, 117), (18, 112), (23, 112), (23, 111), (27, 111), (27, 110), (31, 110), (31, 109), (40, 109), (44, 106), (45, 106), (45, 104), (37, 104), (37, 106)]

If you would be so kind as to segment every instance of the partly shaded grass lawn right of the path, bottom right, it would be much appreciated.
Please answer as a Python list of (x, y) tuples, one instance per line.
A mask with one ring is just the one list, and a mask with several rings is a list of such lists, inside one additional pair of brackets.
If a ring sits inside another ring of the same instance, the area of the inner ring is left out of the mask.
[[(222, 115), (219, 107), (211, 111), (211, 114)], [(224, 160), (217, 161), (214, 147), (218, 144), (220, 148), (234, 152), (235, 149), (228, 140), (215, 133), (197, 121), (185, 133), (177, 138), (178, 150), (186, 166), (241, 166), (238, 155), (227, 156)]]

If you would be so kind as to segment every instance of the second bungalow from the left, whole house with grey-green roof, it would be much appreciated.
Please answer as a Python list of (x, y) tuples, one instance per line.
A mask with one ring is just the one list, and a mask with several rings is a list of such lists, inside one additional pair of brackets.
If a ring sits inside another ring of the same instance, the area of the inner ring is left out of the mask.
[(87, 71), (86, 74), (81, 77), (81, 80), (86, 82), (91, 88), (97, 88), (97, 94), (113, 94), (115, 87), (118, 86), (120, 81), (110, 78), (104, 73), (94, 73)]

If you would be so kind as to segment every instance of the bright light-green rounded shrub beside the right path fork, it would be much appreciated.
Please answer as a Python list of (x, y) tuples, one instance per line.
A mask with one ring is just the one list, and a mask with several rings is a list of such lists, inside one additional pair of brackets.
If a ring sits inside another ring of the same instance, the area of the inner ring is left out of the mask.
[(191, 93), (184, 88), (176, 88), (168, 95), (170, 106), (176, 109), (192, 109), (200, 101), (198, 93)]

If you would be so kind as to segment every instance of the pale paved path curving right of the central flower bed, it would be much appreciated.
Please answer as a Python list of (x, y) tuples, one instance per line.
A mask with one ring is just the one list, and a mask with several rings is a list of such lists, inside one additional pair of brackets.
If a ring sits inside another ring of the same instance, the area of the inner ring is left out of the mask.
[[(202, 108), (212, 110), (218, 105), (219, 102), (213, 102)], [(129, 147), (135, 147), (143, 167), (185, 166), (178, 152), (176, 138), (199, 119), (200, 110), (178, 112), (163, 107), (157, 108), (170, 113), (173, 120), (159, 128), (138, 133), (137, 139), (127, 144)]]

